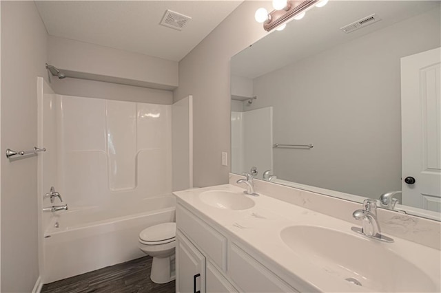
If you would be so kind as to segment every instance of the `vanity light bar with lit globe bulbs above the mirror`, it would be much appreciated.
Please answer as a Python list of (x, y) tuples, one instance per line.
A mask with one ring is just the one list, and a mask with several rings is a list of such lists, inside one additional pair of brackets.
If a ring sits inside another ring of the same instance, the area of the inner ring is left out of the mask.
[(323, 7), (329, 0), (273, 0), (274, 10), (268, 12), (265, 8), (259, 8), (254, 14), (258, 23), (263, 23), (263, 29), (283, 30), (287, 21), (291, 18), (300, 20), (305, 17), (305, 12), (314, 6)]

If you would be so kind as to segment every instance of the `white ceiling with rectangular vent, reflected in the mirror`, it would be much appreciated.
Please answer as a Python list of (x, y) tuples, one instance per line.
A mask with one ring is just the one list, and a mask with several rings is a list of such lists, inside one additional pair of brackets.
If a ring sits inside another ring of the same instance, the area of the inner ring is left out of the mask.
[[(300, 21), (291, 21), (281, 32), (271, 32), (233, 56), (232, 74), (256, 78), (294, 61), (347, 43), (393, 23), (431, 9), (440, 10), (440, 1), (338, 1), (312, 8)], [(340, 28), (371, 14), (382, 20), (349, 34)], [(258, 61), (258, 62), (256, 62)]]

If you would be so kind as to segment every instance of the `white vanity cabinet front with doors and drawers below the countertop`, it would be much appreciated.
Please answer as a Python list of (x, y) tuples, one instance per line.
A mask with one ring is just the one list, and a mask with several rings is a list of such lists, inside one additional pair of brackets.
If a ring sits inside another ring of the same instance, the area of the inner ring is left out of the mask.
[(179, 203), (176, 226), (176, 292), (298, 292), (222, 228)]

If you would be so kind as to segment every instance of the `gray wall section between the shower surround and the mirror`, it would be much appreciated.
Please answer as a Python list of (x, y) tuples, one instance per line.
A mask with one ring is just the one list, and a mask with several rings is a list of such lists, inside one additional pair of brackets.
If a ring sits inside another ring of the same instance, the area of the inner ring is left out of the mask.
[(174, 100), (193, 96), (195, 187), (228, 182), (230, 166), (222, 166), (221, 152), (231, 157), (229, 60), (267, 34), (254, 20), (260, 6), (261, 1), (242, 3), (179, 62)]

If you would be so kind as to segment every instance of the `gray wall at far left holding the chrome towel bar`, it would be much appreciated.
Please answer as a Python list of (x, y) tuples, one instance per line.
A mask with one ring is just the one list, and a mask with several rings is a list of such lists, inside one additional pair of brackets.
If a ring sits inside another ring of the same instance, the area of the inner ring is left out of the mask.
[[(46, 44), (33, 1), (1, 1), (3, 151), (37, 146), (37, 76), (46, 76)], [(31, 292), (39, 276), (37, 157), (0, 158), (1, 292)]]

